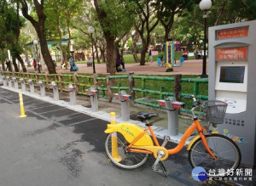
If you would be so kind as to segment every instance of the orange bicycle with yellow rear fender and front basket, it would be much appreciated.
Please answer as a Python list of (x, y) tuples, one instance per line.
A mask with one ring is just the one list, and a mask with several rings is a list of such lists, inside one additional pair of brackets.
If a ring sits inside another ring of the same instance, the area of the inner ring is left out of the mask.
[[(152, 124), (148, 120), (158, 116), (158, 114), (140, 112), (137, 117), (141, 121), (146, 121), (147, 128), (145, 130), (135, 124), (126, 122), (115, 125), (108, 124), (108, 129), (105, 130), (108, 133), (105, 149), (110, 161), (121, 168), (134, 169), (142, 166), (148, 160), (148, 155), (154, 155), (156, 160), (152, 170), (167, 176), (166, 168), (161, 161), (165, 161), (168, 155), (176, 154), (183, 149), (189, 136), (196, 130), (198, 135), (190, 141), (187, 147), (191, 166), (201, 166), (207, 172), (210, 170), (223, 170), (222, 175), (215, 176), (224, 176), (231, 169), (235, 170), (241, 161), (240, 149), (230, 138), (218, 134), (217, 131), (212, 132), (209, 130), (211, 125), (216, 127), (216, 124), (223, 123), (227, 104), (221, 101), (206, 101), (201, 104), (200, 100), (195, 99), (194, 96), (186, 97), (186, 99), (194, 100), (191, 110), (194, 122), (184, 132), (179, 144), (174, 149), (165, 148), (170, 137), (165, 136), (164, 142), (161, 145), (157, 138), (155, 138), (151, 127)], [(198, 117), (195, 116), (195, 109), (200, 105), (202, 105), (207, 121), (209, 121), (207, 127), (201, 127)], [(153, 140), (149, 136), (148, 131), (151, 133)], [(158, 168), (158, 164), (161, 169)]]

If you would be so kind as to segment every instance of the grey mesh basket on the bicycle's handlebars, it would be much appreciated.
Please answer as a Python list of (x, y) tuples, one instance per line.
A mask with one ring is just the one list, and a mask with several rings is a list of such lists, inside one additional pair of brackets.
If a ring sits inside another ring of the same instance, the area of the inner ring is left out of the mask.
[(207, 121), (215, 124), (221, 124), (224, 122), (227, 106), (228, 104), (218, 100), (205, 101), (202, 104), (202, 108), (206, 113)]

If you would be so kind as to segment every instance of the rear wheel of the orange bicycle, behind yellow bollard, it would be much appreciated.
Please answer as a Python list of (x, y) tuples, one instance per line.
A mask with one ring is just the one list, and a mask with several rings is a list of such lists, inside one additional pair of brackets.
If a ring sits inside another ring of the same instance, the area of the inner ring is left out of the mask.
[(125, 169), (134, 169), (142, 166), (143, 163), (148, 160), (148, 154), (127, 151), (125, 147), (128, 145), (128, 142), (121, 133), (117, 132), (118, 155), (121, 158), (121, 161), (116, 161), (112, 156), (111, 134), (112, 133), (109, 133), (106, 138), (105, 149), (108, 158), (113, 162), (114, 165)]

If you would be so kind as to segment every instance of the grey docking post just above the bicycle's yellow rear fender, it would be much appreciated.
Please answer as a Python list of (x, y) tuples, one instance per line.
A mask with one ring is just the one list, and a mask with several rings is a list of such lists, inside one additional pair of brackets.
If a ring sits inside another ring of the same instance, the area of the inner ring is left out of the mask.
[(119, 99), (121, 102), (122, 120), (129, 121), (131, 95), (126, 94), (125, 91), (120, 91), (119, 93), (114, 93), (114, 97), (115, 99)]

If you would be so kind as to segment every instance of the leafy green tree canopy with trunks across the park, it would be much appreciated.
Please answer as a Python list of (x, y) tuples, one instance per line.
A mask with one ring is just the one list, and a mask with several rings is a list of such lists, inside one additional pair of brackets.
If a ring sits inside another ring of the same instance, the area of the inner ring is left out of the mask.
[[(55, 73), (46, 40), (60, 41), (59, 48), (67, 61), (71, 38), (75, 41), (74, 48), (90, 50), (91, 36), (87, 30), (92, 25), (96, 30), (92, 35), (96, 48), (93, 53), (98, 63), (98, 52), (101, 53), (107, 72), (113, 75), (117, 48), (124, 47), (126, 41), (136, 61), (139, 60), (137, 44), (141, 43), (140, 65), (145, 64), (148, 46), (163, 44), (168, 37), (179, 42), (195, 42), (200, 48), (203, 18), (199, 3), (200, 0), (2, 0), (1, 60), (7, 49), (12, 51), (13, 58), (19, 59), (24, 53), (24, 43), (38, 38), (45, 64), (50, 73)], [(254, 0), (214, 0), (208, 26), (255, 20), (255, 8)], [(25, 19), (31, 24), (25, 24)], [(23, 31), (23, 27), (29, 25), (35, 36), (28, 37)], [(61, 45), (61, 38), (68, 39), (67, 46)]]

